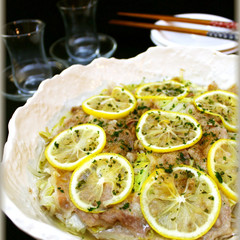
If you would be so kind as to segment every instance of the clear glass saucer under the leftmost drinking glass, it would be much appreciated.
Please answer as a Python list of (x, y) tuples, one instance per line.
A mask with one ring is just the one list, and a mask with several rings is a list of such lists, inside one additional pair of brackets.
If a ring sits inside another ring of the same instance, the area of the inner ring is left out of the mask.
[[(51, 65), (53, 76), (61, 73), (67, 66), (61, 62), (57, 62), (53, 59), (48, 59), (49, 64)], [(2, 94), (9, 100), (25, 102), (33, 94), (25, 94), (19, 91), (13, 81), (12, 68), (11, 66), (6, 67), (3, 70), (3, 79), (5, 79)]]

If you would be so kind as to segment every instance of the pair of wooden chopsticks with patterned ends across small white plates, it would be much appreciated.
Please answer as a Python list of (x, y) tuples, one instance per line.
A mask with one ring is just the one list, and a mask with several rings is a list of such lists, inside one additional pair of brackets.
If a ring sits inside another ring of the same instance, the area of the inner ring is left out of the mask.
[[(191, 19), (191, 18), (182, 18), (182, 17), (180, 18), (180, 17), (157, 15), (157, 14), (142, 14), (142, 13), (119, 12), (118, 15), (127, 16), (127, 17), (146, 18), (146, 19), (153, 19), (153, 20), (166, 20), (166, 21), (204, 24), (204, 25), (210, 25), (210, 26), (230, 28), (230, 29), (234, 29), (234, 30), (237, 29), (236, 22), (211, 21), (211, 20)], [(146, 29), (156, 29), (156, 30), (164, 30), (164, 31), (197, 34), (197, 35), (202, 35), (202, 36), (238, 41), (238, 34), (236, 32), (207, 31), (207, 30), (202, 30), (202, 29), (156, 25), (156, 24), (152, 24), (152, 23), (133, 22), (133, 21), (117, 20), (117, 19), (110, 20), (109, 23), (116, 24), (116, 25), (122, 25), (122, 26), (129, 26), (129, 27), (138, 27), (138, 28), (146, 28)]]

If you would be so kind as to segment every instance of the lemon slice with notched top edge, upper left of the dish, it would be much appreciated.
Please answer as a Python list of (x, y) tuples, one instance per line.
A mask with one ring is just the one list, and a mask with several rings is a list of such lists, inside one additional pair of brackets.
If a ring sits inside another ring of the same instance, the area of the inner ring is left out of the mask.
[(95, 117), (118, 119), (126, 117), (137, 105), (133, 94), (128, 90), (115, 87), (111, 96), (97, 95), (82, 103), (83, 111)]

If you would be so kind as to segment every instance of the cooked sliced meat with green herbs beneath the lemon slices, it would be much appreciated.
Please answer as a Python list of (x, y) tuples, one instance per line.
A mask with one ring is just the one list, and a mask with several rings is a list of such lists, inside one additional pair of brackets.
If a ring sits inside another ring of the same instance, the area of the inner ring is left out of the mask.
[[(209, 86), (210, 90), (217, 89), (216, 83)], [(136, 125), (141, 115), (149, 110), (157, 108), (153, 101), (138, 101), (137, 108), (127, 117), (117, 120), (107, 120), (86, 114), (81, 106), (73, 107), (71, 117), (63, 120), (58, 127), (56, 134), (64, 129), (77, 124), (93, 123), (102, 127), (107, 136), (106, 146), (103, 152), (117, 153), (126, 157), (130, 163), (137, 161), (139, 153), (145, 152), (141, 142), (136, 138)], [(154, 153), (148, 151), (146, 156), (149, 160), (149, 171), (162, 168), (171, 171), (171, 168), (179, 165), (191, 165), (207, 173), (207, 155), (212, 144), (221, 138), (230, 138), (228, 131), (224, 128), (221, 119), (217, 116), (203, 114), (198, 111), (193, 104), (188, 104), (186, 111), (197, 119), (201, 124), (203, 135), (201, 140), (192, 147), (168, 152)], [(148, 234), (153, 231), (146, 222), (141, 212), (139, 194), (131, 193), (123, 202), (113, 205), (105, 212), (91, 213), (77, 209), (71, 202), (68, 188), (71, 172), (56, 170), (54, 181), (56, 182), (56, 202), (57, 214), (72, 215), (77, 214), (87, 229), (98, 239), (104, 236), (111, 236), (111, 239), (118, 239), (118, 236), (125, 236), (125, 239), (148, 239)], [(111, 193), (111, 186), (105, 184), (101, 201), (108, 199)], [(232, 233), (231, 213), (229, 201), (222, 194), (222, 208), (220, 215), (202, 240), (214, 240), (221, 236), (229, 236)], [(112, 234), (115, 232), (116, 234)], [(112, 235), (111, 235), (112, 234)], [(151, 240), (164, 240), (164, 237), (153, 233)], [(127, 237), (126, 237), (127, 236)], [(119, 238), (120, 239), (120, 238)]]

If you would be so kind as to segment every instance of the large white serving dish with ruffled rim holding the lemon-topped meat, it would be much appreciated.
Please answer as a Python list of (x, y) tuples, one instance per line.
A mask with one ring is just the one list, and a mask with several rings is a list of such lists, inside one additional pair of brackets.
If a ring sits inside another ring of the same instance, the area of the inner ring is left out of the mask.
[[(236, 82), (236, 55), (200, 48), (153, 47), (128, 60), (96, 59), (88, 66), (74, 65), (44, 81), (34, 96), (16, 110), (9, 122), (3, 156), (3, 211), (23, 231), (37, 239), (79, 240), (56, 226), (40, 210), (34, 166), (43, 148), (39, 131), (51, 128), (72, 106), (99, 93), (108, 85), (130, 84), (147, 79), (175, 77), (227, 89)], [(224, 67), (223, 67), (224, 66)]]

